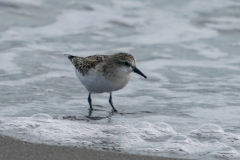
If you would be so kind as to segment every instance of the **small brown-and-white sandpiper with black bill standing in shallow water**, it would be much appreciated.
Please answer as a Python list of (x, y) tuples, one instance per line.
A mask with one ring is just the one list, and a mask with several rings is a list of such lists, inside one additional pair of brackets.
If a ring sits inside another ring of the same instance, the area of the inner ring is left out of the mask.
[(109, 103), (113, 111), (117, 112), (113, 106), (112, 92), (120, 90), (128, 84), (131, 72), (147, 78), (136, 67), (134, 57), (128, 53), (92, 55), (88, 57), (68, 55), (68, 59), (74, 65), (78, 79), (89, 91), (88, 103), (90, 111), (93, 110), (92, 93), (110, 93)]

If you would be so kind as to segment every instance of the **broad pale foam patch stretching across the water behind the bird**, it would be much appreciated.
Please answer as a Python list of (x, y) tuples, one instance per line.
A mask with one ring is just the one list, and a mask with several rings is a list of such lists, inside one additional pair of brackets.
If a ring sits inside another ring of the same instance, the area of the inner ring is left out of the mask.
[[(114, 27), (109, 23), (118, 21), (128, 26), (137, 26), (137, 32), (119, 37), (112, 32), (104, 32), (110, 41), (135, 44), (166, 44), (189, 42), (213, 38), (218, 34), (210, 28), (197, 28), (190, 21), (166, 10), (145, 8), (144, 3), (114, 2), (112, 8), (91, 4), (93, 11), (65, 10), (57, 17), (56, 22), (36, 28), (10, 27), (2, 33), (0, 40), (37, 40), (41, 37), (55, 37), (83, 33), (94, 30), (99, 34), (105, 28)], [(125, 16), (126, 6), (139, 8), (134, 17)]]

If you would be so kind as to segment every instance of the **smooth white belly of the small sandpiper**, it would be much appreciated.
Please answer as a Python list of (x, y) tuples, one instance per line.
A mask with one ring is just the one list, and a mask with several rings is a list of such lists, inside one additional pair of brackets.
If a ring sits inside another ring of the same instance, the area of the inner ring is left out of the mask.
[(125, 87), (130, 78), (131, 74), (118, 79), (107, 80), (105, 77), (96, 71), (91, 71), (90, 74), (83, 76), (78, 70), (75, 70), (78, 79), (86, 87), (89, 92), (103, 93), (117, 91)]

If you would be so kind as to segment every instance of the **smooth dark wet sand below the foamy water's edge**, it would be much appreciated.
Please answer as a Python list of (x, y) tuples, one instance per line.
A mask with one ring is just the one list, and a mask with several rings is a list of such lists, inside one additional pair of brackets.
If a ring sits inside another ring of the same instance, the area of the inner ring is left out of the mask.
[(99, 151), (67, 146), (35, 144), (0, 135), (1, 160), (177, 160)]

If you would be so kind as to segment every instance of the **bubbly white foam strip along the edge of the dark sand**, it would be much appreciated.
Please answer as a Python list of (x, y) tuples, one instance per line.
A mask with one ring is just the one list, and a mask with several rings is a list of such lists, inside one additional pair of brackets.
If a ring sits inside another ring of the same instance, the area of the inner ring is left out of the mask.
[(215, 124), (204, 124), (190, 132), (191, 137), (218, 139), (200, 142), (187, 135), (177, 133), (164, 122), (141, 121), (133, 125), (97, 124), (86, 121), (52, 119), (51, 116), (44, 113), (31, 117), (1, 117), (0, 120), (2, 133), (15, 137), (24, 136), (25, 140), (33, 142), (100, 148), (102, 145), (105, 148), (111, 148), (113, 145), (124, 151), (159, 154), (240, 157), (239, 153), (225, 141), (231, 134), (227, 134)]

